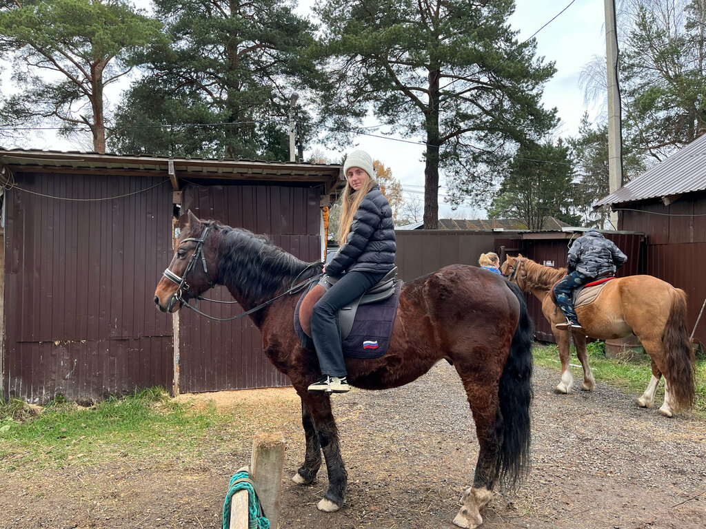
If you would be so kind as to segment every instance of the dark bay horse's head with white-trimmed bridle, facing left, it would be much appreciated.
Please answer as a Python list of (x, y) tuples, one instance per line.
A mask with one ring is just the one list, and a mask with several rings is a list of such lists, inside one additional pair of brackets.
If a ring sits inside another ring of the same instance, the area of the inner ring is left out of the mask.
[[(215, 286), (213, 262), (215, 229), (189, 210), (189, 221), (179, 234), (172, 262), (163, 272), (155, 290), (155, 303), (162, 312), (177, 312), (189, 299)], [(209, 258), (209, 256), (212, 256)]]

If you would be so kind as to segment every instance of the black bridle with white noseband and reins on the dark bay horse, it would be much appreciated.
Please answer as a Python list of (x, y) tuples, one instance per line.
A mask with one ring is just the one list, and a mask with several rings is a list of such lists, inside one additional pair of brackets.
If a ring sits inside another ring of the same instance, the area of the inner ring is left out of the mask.
[[(313, 283), (314, 281), (318, 281), (318, 279), (323, 276), (323, 274), (317, 274), (315, 276), (310, 277), (309, 279), (306, 279), (306, 281), (302, 281), (299, 284), (297, 283), (297, 280), (299, 277), (301, 277), (304, 272), (309, 270), (311, 267), (316, 266), (318, 263), (312, 263), (308, 267), (306, 267), (304, 270), (299, 272), (296, 278), (294, 278), (294, 281), (292, 281), (292, 286), (290, 286), (289, 290), (281, 293), (279, 296), (275, 296), (275, 298), (272, 298), (270, 300), (265, 301), (265, 303), (261, 303), (255, 308), (251, 308), (250, 310), (243, 312), (237, 316), (231, 317), (231, 318), (217, 318), (215, 316), (210, 316), (206, 314), (205, 312), (201, 312), (201, 310), (198, 310), (197, 307), (192, 307), (189, 305), (189, 299), (193, 298), (196, 300), (196, 303), (198, 303), (198, 300), (203, 300), (203, 301), (213, 301), (214, 303), (238, 303), (237, 301), (220, 301), (220, 300), (213, 300), (213, 299), (208, 299), (208, 298), (202, 298), (201, 296), (196, 296), (191, 291), (191, 287), (189, 286), (188, 283), (186, 283), (186, 276), (189, 275), (193, 267), (196, 266), (196, 262), (198, 261), (199, 256), (201, 256), (201, 262), (203, 263), (203, 272), (206, 274), (206, 277), (208, 278), (208, 288), (213, 288), (216, 286), (215, 282), (211, 280), (211, 276), (208, 274), (208, 267), (206, 266), (206, 255), (203, 253), (203, 243), (206, 241), (206, 235), (208, 234), (208, 230), (211, 228), (211, 226), (206, 226), (205, 229), (203, 230), (203, 233), (201, 233), (201, 238), (185, 238), (184, 241), (181, 241), (179, 243), (179, 246), (181, 247), (181, 244), (187, 243), (189, 241), (193, 241), (196, 243), (196, 248), (193, 250), (193, 253), (191, 254), (191, 257), (189, 257), (189, 262), (186, 263), (186, 269), (184, 269), (184, 274), (182, 276), (178, 276), (177, 274), (174, 274), (169, 267), (162, 272), (162, 275), (169, 279), (170, 281), (174, 282), (177, 284), (177, 292), (174, 293), (174, 297), (179, 301), (182, 305), (185, 305), (186, 307), (190, 308), (194, 312), (197, 312), (198, 314), (205, 316), (207, 318), (210, 318), (211, 320), (217, 320), (219, 322), (229, 322), (230, 320), (239, 320), (242, 317), (246, 317), (248, 315), (251, 315), (253, 312), (257, 312), (261, 308), (265, 308), (267, 305), (270, 305), (270, 303), (274, 303), (276, 300), (282, 298), (283, 296), (287, 296), (287, 294), (293, 294), (296, 292), (301, 291), (305, 286), (308, 286), (309, 284)], [(220, 248), (220, 237), (218, 239), (218, 247)], [(218, 249), (216, 249), (216, 255), (218, 255)], [(184, 292), (186, 292), (187, 298), (184, 299)]]

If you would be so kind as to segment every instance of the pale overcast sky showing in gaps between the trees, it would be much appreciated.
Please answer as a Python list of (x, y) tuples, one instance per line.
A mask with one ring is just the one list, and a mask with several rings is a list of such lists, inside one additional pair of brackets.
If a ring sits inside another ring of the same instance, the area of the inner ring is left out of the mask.
[[(309, 15), (311, 4), (316, 0), (299, 0), (297, 12)], [(148, 0), (133, 0), (138, 7), (148, 8)], [(568, 8), (568, 6), (571, 4)], [(546, 107), (557, 107), (558, 114), (563, 121), (561, 135), (576, 135), (584, 111), (589, 111), (591, 118), (595, 118), (603, 109), (593, 105), (587, 107), (584, 95), (578, 86), (579, 75), (582, 67), (593, 56), (603, 56), (605, 53), (604, 36), (604, 4), (603, 0), (516, 0), (516, 11), (510, 18), (510, 25), (520, 30), (519, 40), (531, 37), (543, 25), (558, 15), (564, 8), (566, 11), (557, 16), (536, 35), (537, 54), (544, 56), (546, 61), (555, 61), (557, 72), (554, 78), (547, 83), (544, 90), (544, 104)], [(9, 65), (6, 65), (9, 66)], [(7, 73), (7, 72), (6, 72)], [(7, 75), (3, 76), (2, 89), (8, 90)], [(109, 93), (111, 104), (119, 100), (119, 94)], [(375, 124), (371, 118), (371, 125)], [(423, 138), (419, 138), (423, 140)], [(89, 142), (86, 142), (90, 145)], [(51, 134), (45, 135), (44, 140), (37, 138), (32, 145), (24, 147), (49, 149), (49, 150), (77, 150), (76, 145), (71, 145), (65, 140), (56, 140)], [(316, 145), (307, 146), (308, 152)], [(421, 197), (424, 186), (424, 164), (421, 155), (424, 147), (409, 143), (397, 142), (390, 139), (371, 138), (359, 136), (355, 138), (349, 150), (361, 148), (370, 152), (373, 158), (380, 159), (389, 166), (393, 176), (402, 182), (408, 196)], [(306, 154), (306, 153), (305, 153)], [(340, 159), (342, 152), (327, 154), (333, 159)], [(445, 177), (441, 175), (442, 186)], [(445, 188), (441, 188), (439, 204), (440, 218), (451, 214), (450, 208), (443, 205)], [(466, 218), (474, 218), (482, 212), (472, 207), (462, 207), (455, 213)]]

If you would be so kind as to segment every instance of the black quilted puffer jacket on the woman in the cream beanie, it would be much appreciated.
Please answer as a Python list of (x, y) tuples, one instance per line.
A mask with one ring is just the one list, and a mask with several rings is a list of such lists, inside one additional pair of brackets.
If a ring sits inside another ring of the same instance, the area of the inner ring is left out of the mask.
[(346, 242), (326, 265), (326, 273), (389, 272), (395, 267), (396, 250), (393, 211), (380, 186), (373, 186), (361, 200)]

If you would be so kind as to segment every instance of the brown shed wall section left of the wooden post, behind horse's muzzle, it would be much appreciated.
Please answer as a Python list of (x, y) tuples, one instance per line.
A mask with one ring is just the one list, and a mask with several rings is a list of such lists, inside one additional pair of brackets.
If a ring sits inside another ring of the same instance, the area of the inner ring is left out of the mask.
[(172, 254), (169, 180), (16, 181), (22, 190), (6, 192), (5, 394), (42, 403), (170, 387), (171, 319), (152, 300)]

